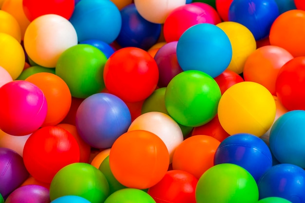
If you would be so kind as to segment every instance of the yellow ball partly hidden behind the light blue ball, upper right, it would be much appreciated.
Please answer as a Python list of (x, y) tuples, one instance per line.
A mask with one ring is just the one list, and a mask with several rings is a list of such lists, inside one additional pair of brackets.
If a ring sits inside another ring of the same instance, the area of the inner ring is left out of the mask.
[(216, 25), (222, 29), (232, 45), (232, 59), (228, 70), (241, 74), (247, 57), (256, 50), (256, 41), (251, 31), (238, 22), (225, 21)]

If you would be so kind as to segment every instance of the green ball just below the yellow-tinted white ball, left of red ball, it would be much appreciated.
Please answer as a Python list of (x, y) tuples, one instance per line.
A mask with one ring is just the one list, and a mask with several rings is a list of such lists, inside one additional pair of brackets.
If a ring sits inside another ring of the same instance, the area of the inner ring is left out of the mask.
[(106, 61), (107, 57), (95, 46), (77, 44), (59, 56), (55, 73), (67, 83), (73, 97), (87, 98), (105, 88)]

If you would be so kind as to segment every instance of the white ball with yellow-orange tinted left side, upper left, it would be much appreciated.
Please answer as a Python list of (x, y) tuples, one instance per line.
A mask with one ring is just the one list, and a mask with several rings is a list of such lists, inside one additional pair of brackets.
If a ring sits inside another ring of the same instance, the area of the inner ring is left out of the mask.
[(54, 68), (59, 56), (78, 42), (73, 25), (55, 14), (33, 20), (25, 31), (23, 41), (27, 55), (47, 68)]

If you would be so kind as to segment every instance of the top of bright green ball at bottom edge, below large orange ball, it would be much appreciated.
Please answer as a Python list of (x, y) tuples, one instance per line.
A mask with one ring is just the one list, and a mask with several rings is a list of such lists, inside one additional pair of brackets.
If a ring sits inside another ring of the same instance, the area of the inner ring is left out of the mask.
[(104, 203), (156, 203), (152, 197), (140, 189), (125, 188), (112, 193)]

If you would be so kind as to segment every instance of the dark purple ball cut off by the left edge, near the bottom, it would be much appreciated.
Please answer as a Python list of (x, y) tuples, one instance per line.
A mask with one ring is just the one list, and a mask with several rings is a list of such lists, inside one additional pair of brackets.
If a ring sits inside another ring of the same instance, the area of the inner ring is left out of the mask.
[(0, 148), (0, 193), (4, 199), (29, 177), (22, 157), (12, 149)]

